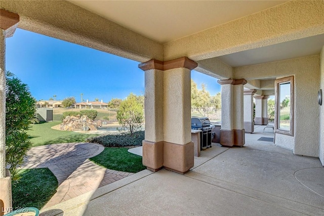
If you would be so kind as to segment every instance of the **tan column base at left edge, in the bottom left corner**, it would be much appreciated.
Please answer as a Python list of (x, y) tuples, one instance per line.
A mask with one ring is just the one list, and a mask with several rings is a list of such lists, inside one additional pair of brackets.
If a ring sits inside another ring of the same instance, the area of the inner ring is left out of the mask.
[(0, 216), (12, 210), (11, 176), (9, 170), (6, 170), (6, 176), (5, 178), (0, 178)]

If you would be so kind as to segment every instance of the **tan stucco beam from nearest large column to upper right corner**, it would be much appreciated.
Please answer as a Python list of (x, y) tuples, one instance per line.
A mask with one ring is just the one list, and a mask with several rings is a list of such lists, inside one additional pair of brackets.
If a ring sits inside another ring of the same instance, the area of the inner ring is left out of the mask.
[(169, 42), (164, 58), (196, 61), (321, 34), (323, 11), (324, 1), (287, 2)]

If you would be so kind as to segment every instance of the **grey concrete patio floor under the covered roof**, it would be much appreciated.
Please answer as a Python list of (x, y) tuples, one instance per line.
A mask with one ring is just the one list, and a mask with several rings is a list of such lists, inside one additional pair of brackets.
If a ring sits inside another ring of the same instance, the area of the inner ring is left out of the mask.
[(246, 134), (242, 148), (201, 152), (185, 175), (143, 170), (41, 215), (324, 215), (324, 167)]

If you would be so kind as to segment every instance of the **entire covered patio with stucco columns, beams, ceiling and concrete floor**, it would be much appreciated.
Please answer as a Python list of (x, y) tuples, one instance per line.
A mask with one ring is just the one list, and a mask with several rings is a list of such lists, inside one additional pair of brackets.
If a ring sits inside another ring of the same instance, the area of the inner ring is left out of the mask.
[[(6, 38), (17, 27), (138, 61), (145, 71), (148, 170), (59, 204), (64, 215), (323, 214), (324, 1), (0, 0), (0, 8), (0, 95)], [(222, 86), (223, 147), (201, 163), (190, 133), (193, 69)], [(269, 95), (275, 146), (249, 147), (246, 132), (267, 124)], [(5, 106), (1, 97), (0, 203), (10, 209)]]

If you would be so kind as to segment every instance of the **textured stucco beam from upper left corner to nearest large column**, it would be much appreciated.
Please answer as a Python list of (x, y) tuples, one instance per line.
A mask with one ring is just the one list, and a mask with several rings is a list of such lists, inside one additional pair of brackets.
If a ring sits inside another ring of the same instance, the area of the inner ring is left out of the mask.
[(163, 59), (163, 45), (67, 1), (0, 1), (20, 16), (19, 28), (145, 62)]

